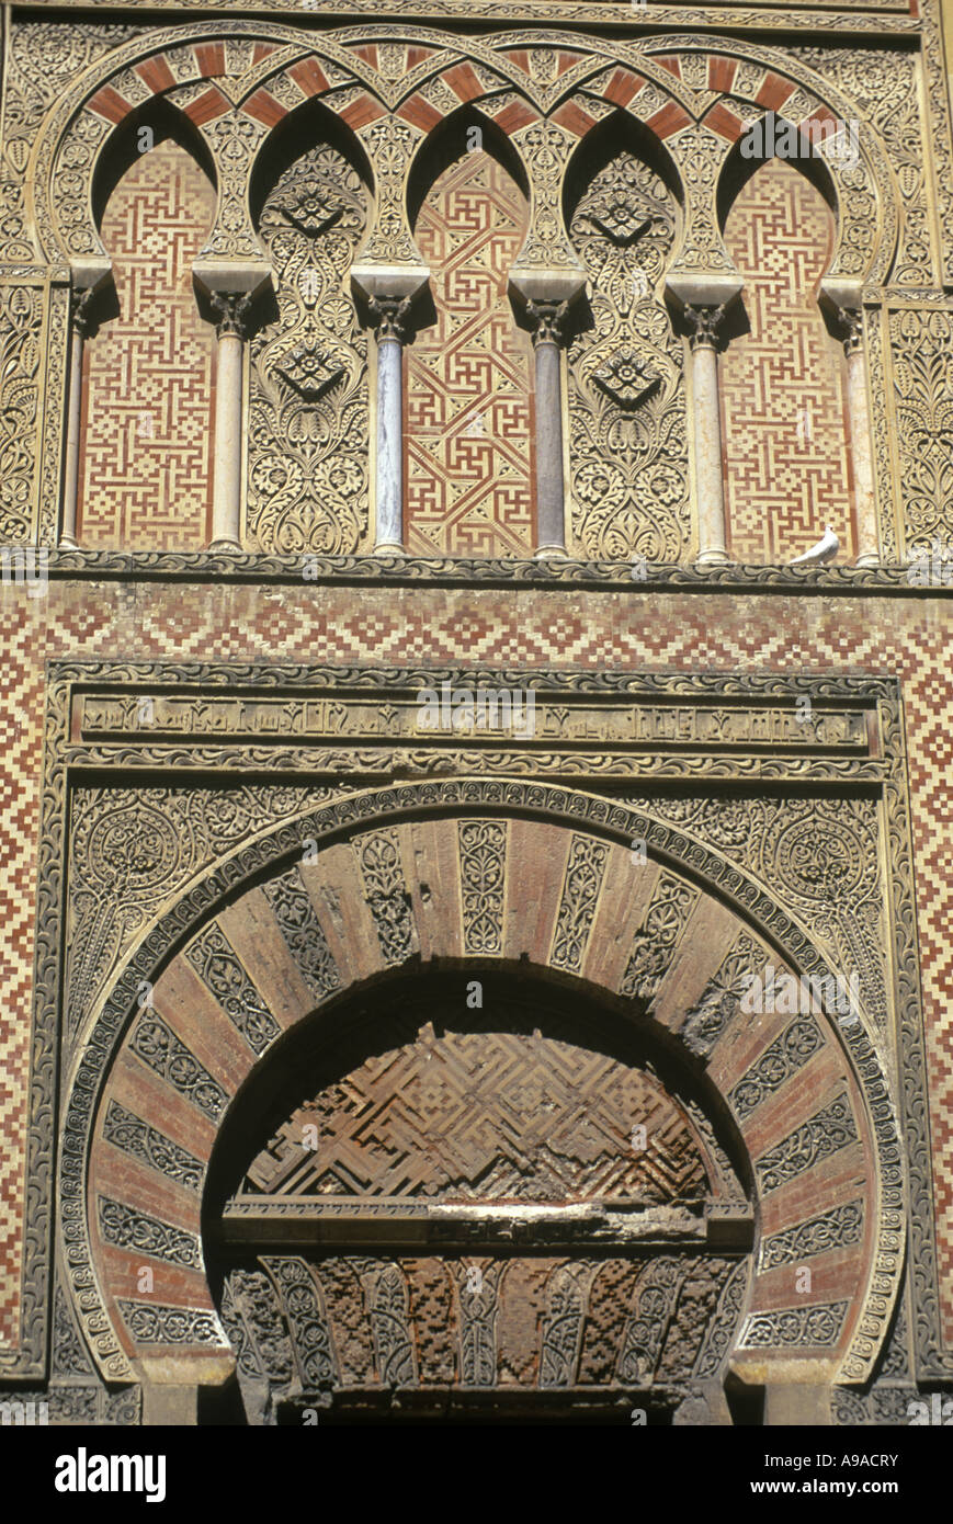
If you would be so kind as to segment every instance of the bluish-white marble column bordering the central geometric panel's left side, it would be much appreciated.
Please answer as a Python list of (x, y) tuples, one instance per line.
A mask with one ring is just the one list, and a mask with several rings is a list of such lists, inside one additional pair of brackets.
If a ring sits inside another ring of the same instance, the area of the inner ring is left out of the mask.
[(404, 555), (404, 338), (410, 297), (375, 296), (378, 555)]

